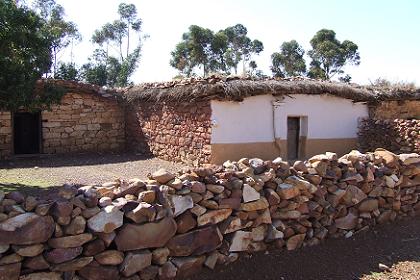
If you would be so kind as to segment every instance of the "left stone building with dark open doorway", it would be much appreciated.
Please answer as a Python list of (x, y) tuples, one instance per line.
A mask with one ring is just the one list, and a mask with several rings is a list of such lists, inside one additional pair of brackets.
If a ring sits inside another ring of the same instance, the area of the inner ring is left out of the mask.
[(0, 158), (124, 149), (121, 95), (94, 85), (55, 83), (66, 93), (50, 110), (0, 111)]

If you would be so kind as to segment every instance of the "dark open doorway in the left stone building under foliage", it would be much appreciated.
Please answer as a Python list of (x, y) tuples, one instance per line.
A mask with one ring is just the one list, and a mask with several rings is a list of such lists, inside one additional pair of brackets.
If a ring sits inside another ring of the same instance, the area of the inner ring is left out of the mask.
[(40, 141), (41, 113), (14, 113), (13, 144), (15, 154), (38, 154)]

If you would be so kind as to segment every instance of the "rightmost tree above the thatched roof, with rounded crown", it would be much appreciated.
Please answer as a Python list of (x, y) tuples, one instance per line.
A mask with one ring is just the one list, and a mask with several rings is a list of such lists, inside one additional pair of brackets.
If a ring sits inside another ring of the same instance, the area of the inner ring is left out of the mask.
[[(333, 30), (321, 29), (310, 41), (312, 50), (308, 52), (312, 58), (308, 76), (329, 80), (335, 75), (343, 75), (345, 65), (359, 65), (358, 46), (352, 41), (340, 42)], [(341, 77), (350, 81), (351, 77)]]

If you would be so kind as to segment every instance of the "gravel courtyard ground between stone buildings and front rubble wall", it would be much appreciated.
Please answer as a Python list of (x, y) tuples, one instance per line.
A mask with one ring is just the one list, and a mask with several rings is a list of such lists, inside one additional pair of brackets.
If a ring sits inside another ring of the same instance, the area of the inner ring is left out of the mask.
[(157, 158), (135, 154), (79, 154), (0, 161), (0, 189), (46, 188), (64, 183), (98, 184), (118, 178), (146, 178), (159, 168), (182, 168)]

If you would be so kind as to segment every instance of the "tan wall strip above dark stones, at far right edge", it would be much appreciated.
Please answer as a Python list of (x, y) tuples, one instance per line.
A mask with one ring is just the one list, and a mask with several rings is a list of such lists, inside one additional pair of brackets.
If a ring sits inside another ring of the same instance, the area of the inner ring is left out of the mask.
[(420, 119), (420, 100), (381, 101), (370, 107), (372, 119)]

